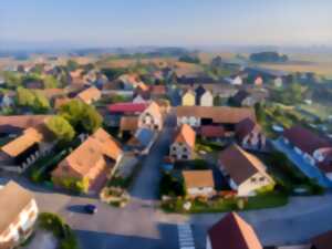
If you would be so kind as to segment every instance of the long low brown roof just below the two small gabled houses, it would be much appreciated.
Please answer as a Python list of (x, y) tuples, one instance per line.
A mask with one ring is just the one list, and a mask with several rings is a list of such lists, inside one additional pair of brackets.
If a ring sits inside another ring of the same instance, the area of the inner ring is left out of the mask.
[(255, 112), (245, 107), (228, 106), (177, 106), (177, 117), (195, 116), (200, 118), (211, 118), (214, 123), (237, 124), (240, 121), (250, 117), (256, 121)]

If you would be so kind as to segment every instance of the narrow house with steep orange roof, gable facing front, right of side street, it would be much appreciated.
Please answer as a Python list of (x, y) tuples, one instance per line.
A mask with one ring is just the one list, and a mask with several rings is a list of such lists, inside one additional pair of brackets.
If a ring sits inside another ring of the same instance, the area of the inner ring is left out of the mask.
[(169, 156), (174, 159), (190, 159), (195, 151), (195, 131), (187, 124), (184, 124), (176, 133), (170, 145)]

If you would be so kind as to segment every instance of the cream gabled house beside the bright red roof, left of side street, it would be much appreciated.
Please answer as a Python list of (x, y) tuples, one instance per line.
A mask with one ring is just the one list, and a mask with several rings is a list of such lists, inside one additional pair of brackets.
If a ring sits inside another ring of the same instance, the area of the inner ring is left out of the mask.
[(139, 128), (149, 128), (153, 131), (162, 131), (164, 123), (164, 114), (159, 105), (152, 102), (147, 108), (141, 113), (138, 117)]

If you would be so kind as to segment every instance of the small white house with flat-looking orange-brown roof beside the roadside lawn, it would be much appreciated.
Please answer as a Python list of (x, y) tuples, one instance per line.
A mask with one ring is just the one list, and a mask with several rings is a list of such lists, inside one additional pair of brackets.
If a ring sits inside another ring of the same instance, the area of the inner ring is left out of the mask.
[(215, 195), (212, 170), (184, 170), (183, 176), (188, 197), (211, 197)]

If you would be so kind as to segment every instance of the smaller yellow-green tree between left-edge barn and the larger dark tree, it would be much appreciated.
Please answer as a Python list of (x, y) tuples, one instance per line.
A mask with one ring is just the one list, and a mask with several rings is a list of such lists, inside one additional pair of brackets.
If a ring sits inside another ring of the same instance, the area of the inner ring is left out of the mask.
[(71, 124), (62, 116), (52, 116), (46, 120), (45, 124), (59, 141), (70, 142), (75, 136), (75, 131), (73, 129)]

